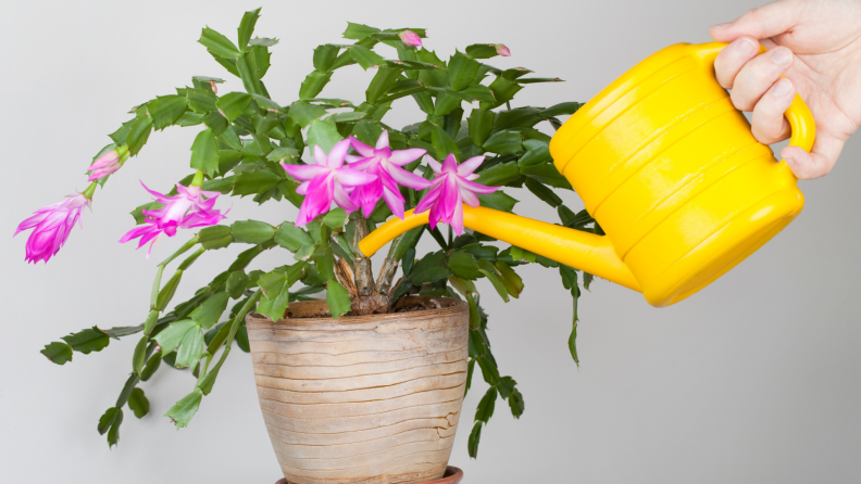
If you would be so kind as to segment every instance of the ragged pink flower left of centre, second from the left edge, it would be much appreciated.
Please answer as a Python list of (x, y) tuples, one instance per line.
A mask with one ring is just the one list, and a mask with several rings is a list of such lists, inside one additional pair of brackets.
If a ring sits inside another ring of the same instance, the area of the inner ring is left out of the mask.
[[(152, 241), (149, 251), (147, 251), (147, 257), (149, 257), (152, 246), (159, 241), (162, 233), (166, 233), (167, 237), (174, 237), (176, 229), (207, 227), (215, 225), (225, 218), (221, 211), (213, 208), (215, 200), (221, 194), (219, 192), (207, 192), (201, 190), (200, 187), (190, 186), (186, 188), (177, 183), (176, 190), (179, 194), (165, 196), (162, 193), (150, 190), (142, 181), (140, 184), (155, 198), (157, 202), (164, 206), (155, 211), (142, 211), (147, 217), (147, 225), (129, 230), (120, 239), (120, 243), (140, 238), (138, 242), (138, 249), (140, 249), (147, 242)], [(203, 196), (207, 196), (207, 199), (203, 199)], [(227, 212), (224, 214), (226, 215)]]

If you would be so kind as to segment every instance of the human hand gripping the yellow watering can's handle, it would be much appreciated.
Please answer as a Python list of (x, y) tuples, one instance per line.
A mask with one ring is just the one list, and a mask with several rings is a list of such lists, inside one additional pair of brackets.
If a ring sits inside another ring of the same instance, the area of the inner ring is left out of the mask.
[[(800, 179), (827, 175), (861, 125), (861, 0), (778, 0), (709, 33), (732, 42), (714, 71), (733, 104), (753, 112), (757, 140), (789, 137), (783, 113), (797, 91), (816, 120), (816, 141), (810, 153), (786, 147), (781, 155)], [(769, 52), (759, 54), (757, 40)]]

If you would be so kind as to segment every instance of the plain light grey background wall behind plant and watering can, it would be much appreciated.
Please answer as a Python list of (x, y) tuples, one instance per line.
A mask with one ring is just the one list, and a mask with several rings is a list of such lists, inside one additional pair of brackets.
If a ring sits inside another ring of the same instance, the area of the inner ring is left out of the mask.
[[(228, 37), (246, 10), (264, 3), (257, 34), (278, 37), (266, 85), (289, 103), (311, 69), (313, 47), (337, 42), (346, 21), (427, 27), (427, 46), (504, 42), (500, 67), (526, 66), (564, 84), (526, 89), (516, 105), (586, 101), (640, 59), (667, 44), (708, 41), (708, 27), (753, 7), (749, 1), (147, 1), (4, 2), (0, 139), (4, 179), (0, 238), (3, 273), (0, 344), (0, 482), (270, 483), (279, 476), (257, 403), (248, 355), (234, 354), (190, 428), (160, 417), (194, 385), (163, 371), (145, 383), (152, 409), (129, 412), (121, 445), (96, 433), (129, 371), (136, 337), (102, 353), (76, 353), (58, 367), (43, 344), (92, 324), (125, 326), (146, 316), (154, 265), (178, 246), (167, 239), (147, 260), (116, 240), (127, 215), (147, 201), (142, 179), (166, 190), (188, 173), (197, 129), (153, 133), (105, 190), (84, 230), (47, 266), (27, 266), (15, 225), (86, 187), (84, 169), (132, 106), (190, 84), (192, 75), (229, 79), (196, 40), (209, 25)], [(372, 73), (351, 67), (324, 91), (363, 98)], [(387, 120), (420, 119), (410, 101)], [(598, 281), (581, 304), (582, 365), (566, 348), (571, 303), (559, 276), (522, 271), (526, 290), (503, 305), (482, 285), (501, 371), (525, 396), (520, 421), (499, 402), (477, 461), (466, 437), (479, 383), (464, 404), (451, 463), (469, 483), (490, 482), (850, 482), (861, 471), (861, 368), (857, 255), (861, 139), (850, 140), (834, 173), (802, 182), (804, 212), (776, 240), (696, 297), (654, 309), (639, 294)], [(554, 219), (528, 193), (517, 212)], [(575, 195), (567, 198), (576, 205)], [(257, 209), (233, 203), (230, 219), (278, 224), (286, 203)], [(424, 241), (425, 249), (432, 244)], [(208, 254), (176, 301), (221, 270), (238, 249)], [(284, 264), (273, 251), (260, 265)], [(210, 264), (211, 263), (211, 264)], [(485, 284), (485, 283), (483, 283)]]

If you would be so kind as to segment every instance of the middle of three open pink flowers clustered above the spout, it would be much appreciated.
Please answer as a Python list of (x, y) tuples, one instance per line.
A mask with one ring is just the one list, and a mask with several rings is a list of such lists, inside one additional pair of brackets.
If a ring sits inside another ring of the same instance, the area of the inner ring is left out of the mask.
[(371, 215), (380, 196), (398, 218), (403, 218), (403, 196), (398, 184), (422, 190), (430, 187), (430, 182), (419, 175), (407, 171), (401, 166), (419, 160), (427, 150), (412, 148), (391, 151), (388, 148), (388, 131), (383, 131), (377, 139), (376, 148), (350, 137), (350, 144), (361, 156), (347, 155), (350, 168), (375, 175), (376, 180), (358, 187), (352, 192), (352, 201), (362, 207), (364, 216)]

